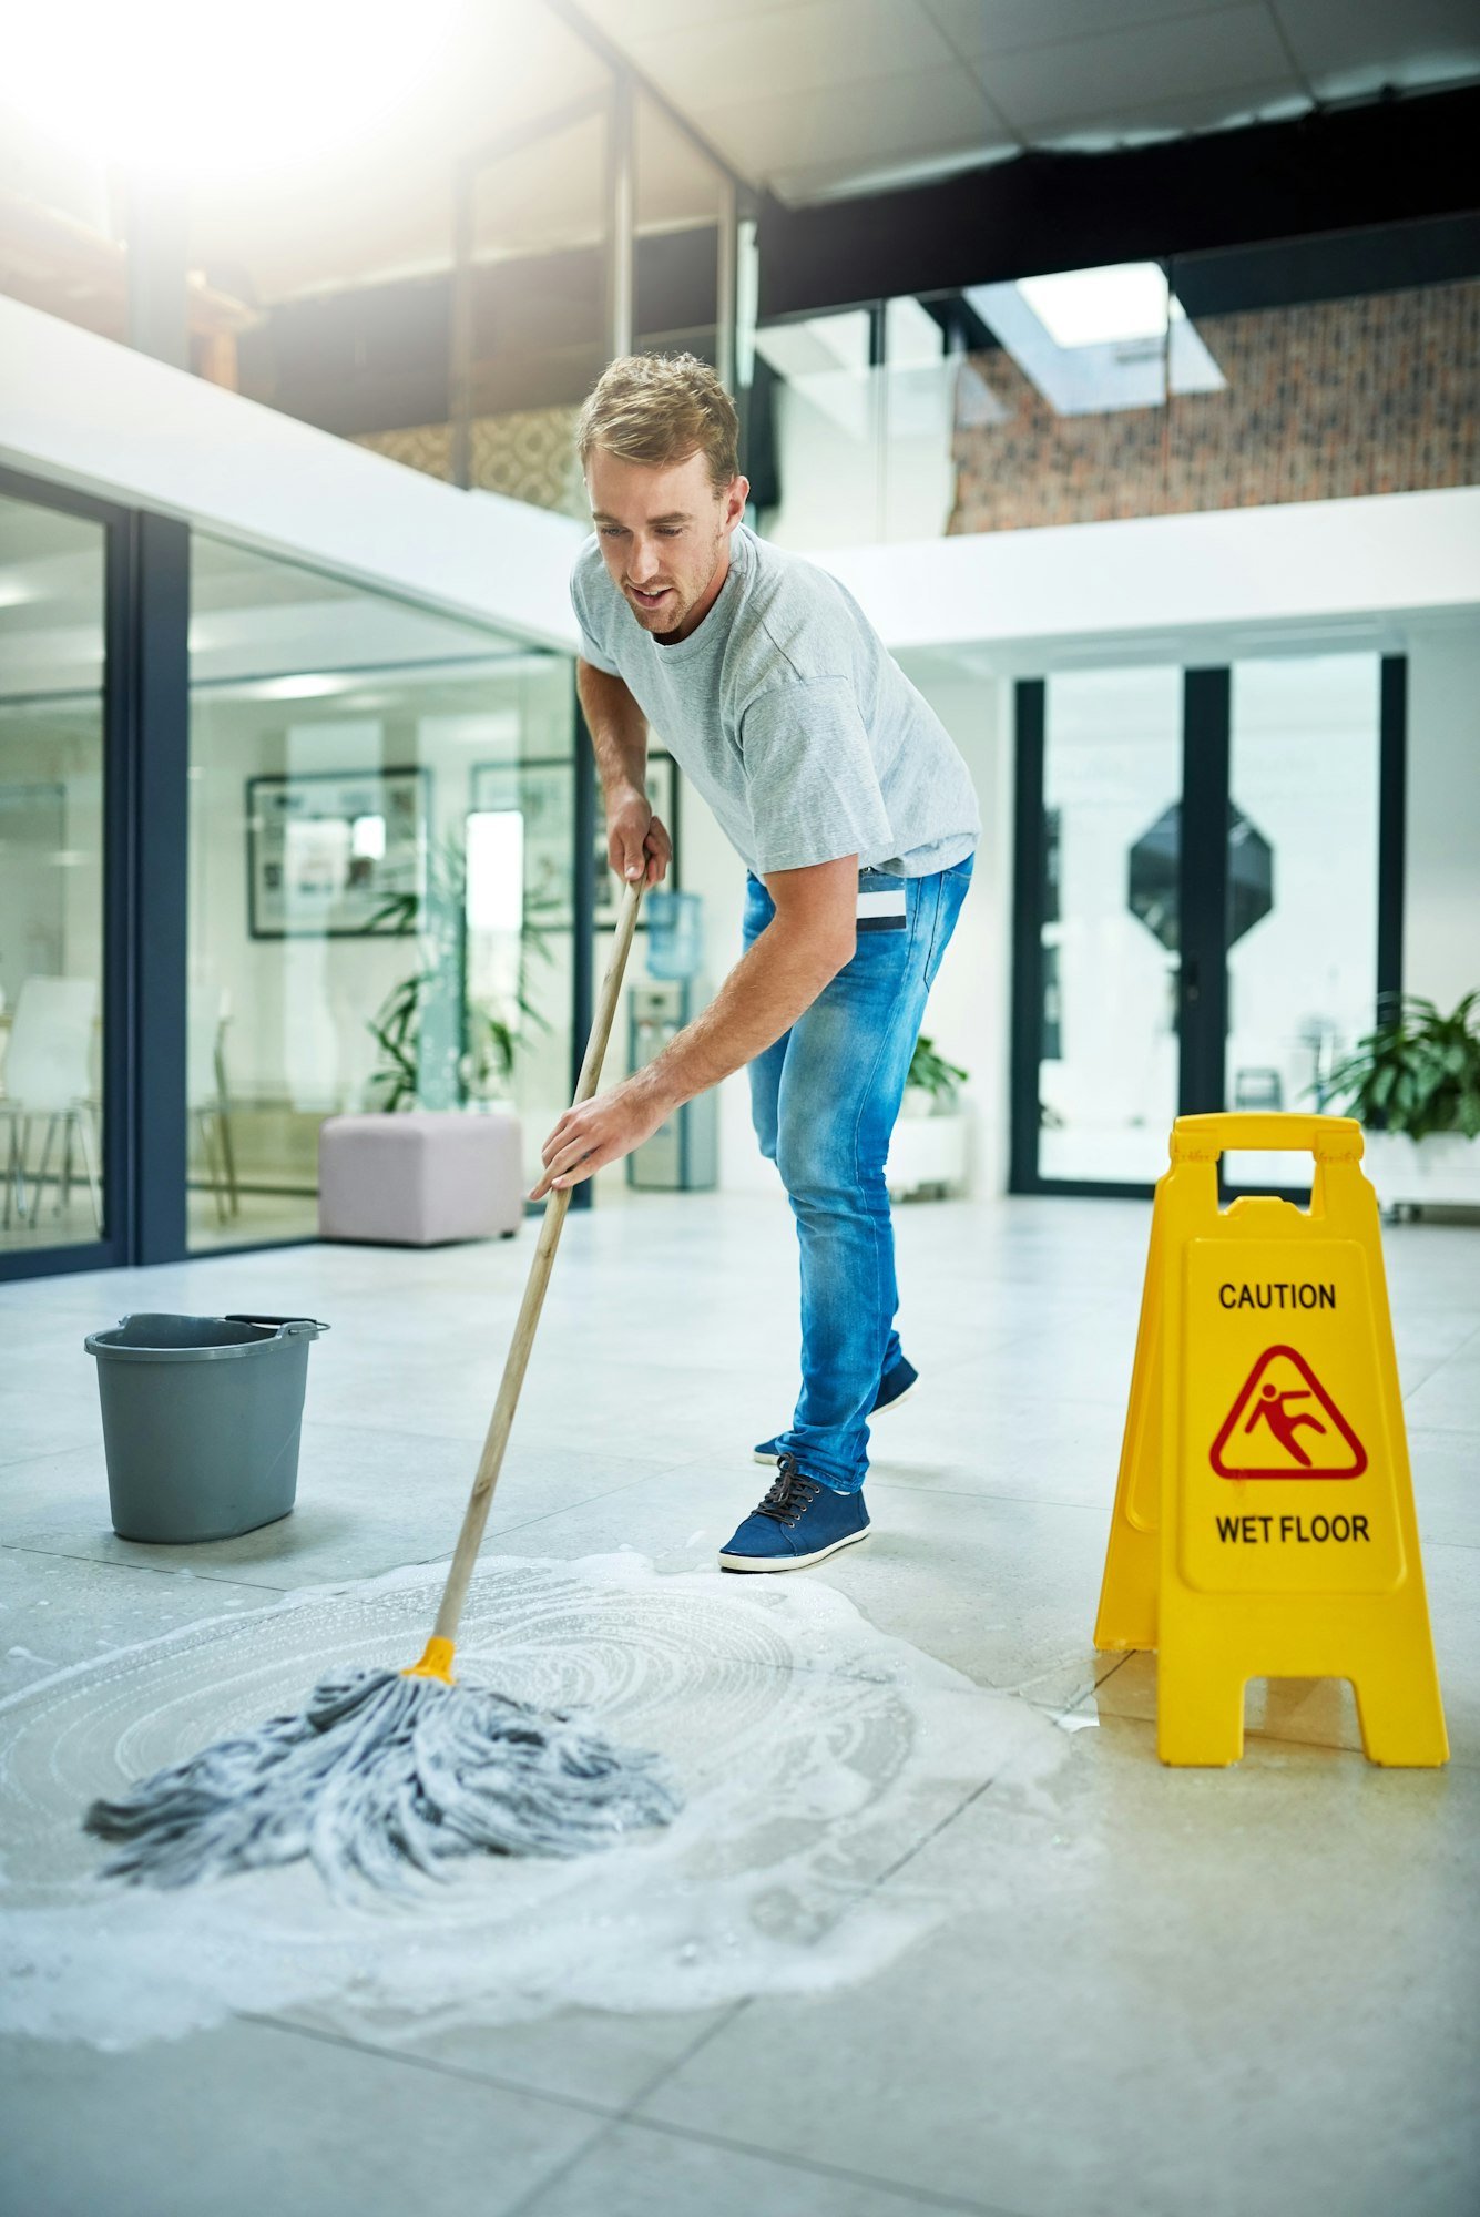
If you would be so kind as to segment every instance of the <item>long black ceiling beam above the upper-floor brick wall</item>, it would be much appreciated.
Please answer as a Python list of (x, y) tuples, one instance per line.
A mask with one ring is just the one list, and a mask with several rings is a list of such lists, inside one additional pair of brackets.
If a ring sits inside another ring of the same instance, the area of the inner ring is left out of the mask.
[(1024, 153), (760, 217), (760, 315), (953, 293), (1480, 206), (1480, 86), (1121, 153)]

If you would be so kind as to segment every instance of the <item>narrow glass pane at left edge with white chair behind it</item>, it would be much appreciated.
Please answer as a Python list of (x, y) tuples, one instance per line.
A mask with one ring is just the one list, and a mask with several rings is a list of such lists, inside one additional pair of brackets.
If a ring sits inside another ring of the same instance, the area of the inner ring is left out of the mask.
[(104, 528), (0, 499), (0, 1253), (102, 1237)]

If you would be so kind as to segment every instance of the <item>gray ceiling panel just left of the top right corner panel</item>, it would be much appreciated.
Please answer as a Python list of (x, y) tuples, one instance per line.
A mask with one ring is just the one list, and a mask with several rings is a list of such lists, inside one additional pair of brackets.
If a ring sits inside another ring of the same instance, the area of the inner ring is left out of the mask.
[(1008, 122), (1035, 135), (1068, 118), (1134, 111), (1223, 86), (1285, 80), (1289, 91), (1303, 91), (1263, 4), (1006, 53), (986, 62), (981, 75)]

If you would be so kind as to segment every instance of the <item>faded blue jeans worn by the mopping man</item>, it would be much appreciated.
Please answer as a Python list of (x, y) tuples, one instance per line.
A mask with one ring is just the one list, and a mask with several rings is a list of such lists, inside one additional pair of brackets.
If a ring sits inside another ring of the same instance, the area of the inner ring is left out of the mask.
[[(869, 1470), (869, 1410), (900, 1359), (884, 1162), (926, 995), (955, 931), (970, 856), (902, 878), (902, 931), (860, 931), (853, 960), (751, 1062), (751, 1122), (782, 1175), (802, 1248), (802, 1397), (782, 1450), (840, 1494)], [(744, 944), (775, 916), (744, 889)]]

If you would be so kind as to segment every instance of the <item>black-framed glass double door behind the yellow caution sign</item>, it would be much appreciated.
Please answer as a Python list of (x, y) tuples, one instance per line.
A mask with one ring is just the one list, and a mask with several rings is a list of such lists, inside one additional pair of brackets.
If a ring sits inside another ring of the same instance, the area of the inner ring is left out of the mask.
[(1145, 1193), (1176, 1115), (1325, 1106), (1398, 984), (1400, 676), (1327, 654), (1017, 687), (1015, 1193)]

